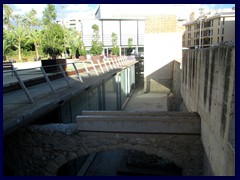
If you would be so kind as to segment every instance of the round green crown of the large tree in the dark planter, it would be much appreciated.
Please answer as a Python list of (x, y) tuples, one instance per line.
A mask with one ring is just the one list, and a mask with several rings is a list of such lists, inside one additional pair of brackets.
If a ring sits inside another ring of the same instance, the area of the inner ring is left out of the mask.
[(59, 24), (51, 24), (43, 31), (43, 52), (56, 59), (64, 51), (64, 32)]

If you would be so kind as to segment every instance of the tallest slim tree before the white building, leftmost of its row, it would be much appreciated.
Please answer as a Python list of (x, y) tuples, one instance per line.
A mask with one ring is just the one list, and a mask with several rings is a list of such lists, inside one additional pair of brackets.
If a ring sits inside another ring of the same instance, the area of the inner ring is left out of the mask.
[(100, 41), (98, 25), (96, 24), (92, 25), (92, 29), (93, 29), (93, 40), (92, 40), (92, 47), (90, 49), (90, 53), (93, 54), (94, 56), (97, 56), (102, 53), (103, 44)]

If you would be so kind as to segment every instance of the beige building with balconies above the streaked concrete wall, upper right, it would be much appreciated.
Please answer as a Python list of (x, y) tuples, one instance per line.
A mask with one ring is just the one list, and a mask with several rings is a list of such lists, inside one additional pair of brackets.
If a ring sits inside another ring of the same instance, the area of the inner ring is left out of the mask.
[(184, 24), (183, 47), (209, 47), (221, 42), (235, 41), (235, 10), (223, 9), (199, 15), (192, 13)]

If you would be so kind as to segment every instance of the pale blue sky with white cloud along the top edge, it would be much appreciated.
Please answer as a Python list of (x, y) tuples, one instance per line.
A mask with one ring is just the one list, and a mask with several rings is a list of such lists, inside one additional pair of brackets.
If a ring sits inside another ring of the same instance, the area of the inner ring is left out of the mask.
[[(31, 9), (37, 11), (38, 18), (42, 18), (42, 12), (47, 6), (46, 4), (9, 4), (14, 14), (24, 14), (29, 12)], [(99, 4), (54, 4), (57, 10), (57, 19), (61, 18), (87, 18), (91, 15), (94, 15)], [(232, 8), (234, 4), (192, 4), (189, 5), (189, 8), (192, 11), (198, 10), (200, 7), (203, 7), (206, 11), (210, 9), (223, 9), (223, 8)], [(190, 10), (191, 11), (191, 10)]]

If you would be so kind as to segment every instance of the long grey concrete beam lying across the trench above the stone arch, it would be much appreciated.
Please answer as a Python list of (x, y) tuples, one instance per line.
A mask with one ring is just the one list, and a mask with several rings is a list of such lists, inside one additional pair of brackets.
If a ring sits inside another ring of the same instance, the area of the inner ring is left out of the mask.
[(97, 132), (200, 134), (197, 113), (84, 111), (76, 117), (77, 129)]

